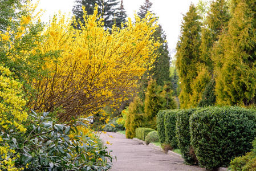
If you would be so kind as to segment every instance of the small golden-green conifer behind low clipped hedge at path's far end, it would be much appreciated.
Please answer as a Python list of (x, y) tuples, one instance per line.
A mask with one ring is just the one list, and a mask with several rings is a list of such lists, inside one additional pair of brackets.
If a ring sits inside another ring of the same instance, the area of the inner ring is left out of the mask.
[(127, 120), (125, 120), (125, 136), (127, 139), (135, 137), (135, 130), (141, 127), (143, 122), (143, 102), (139, 97), (135, 97), (128, 108)]

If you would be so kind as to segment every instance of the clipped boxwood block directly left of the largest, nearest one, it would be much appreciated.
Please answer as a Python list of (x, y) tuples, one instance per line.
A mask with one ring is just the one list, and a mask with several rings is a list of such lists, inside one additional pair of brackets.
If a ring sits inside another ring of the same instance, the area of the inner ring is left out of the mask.
[[(199, 108), (198, 108), (199, 109)], [(194, 165), (197, 164), (197, 158), (194, 156), (193, 147), (190, 144), (189, 133), (189, 117), (196, 111), (192, 109), (182, 109), (176, 113), (176, 136), (178, 141), (178, 148), (181, 151), (181, 156), (185, 161), (185, 164)]]

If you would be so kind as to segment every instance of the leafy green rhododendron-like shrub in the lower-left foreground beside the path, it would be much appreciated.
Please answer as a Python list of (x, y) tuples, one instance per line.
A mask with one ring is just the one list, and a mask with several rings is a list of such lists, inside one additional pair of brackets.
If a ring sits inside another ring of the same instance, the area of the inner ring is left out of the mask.
[[(58, 124), (47, 117), (48, 112), (38, 115), (34, 111), (32, 131), (25, 141), (17, 141), (14, 131), (10, 135), (2, 132), (7, 144), (15, 153), (16, 168), (25, 170), (108, 170), (112, 167), (112, 157), (107, 147), (99, 148), (90, 137), (79, 132), (79, 125), (86, 126), (88, 119), (74, 121), (70, 125)], [(75, 137), (71, 137), (73, 132)], [(2, 159), (2, 157), (1, 157)]]

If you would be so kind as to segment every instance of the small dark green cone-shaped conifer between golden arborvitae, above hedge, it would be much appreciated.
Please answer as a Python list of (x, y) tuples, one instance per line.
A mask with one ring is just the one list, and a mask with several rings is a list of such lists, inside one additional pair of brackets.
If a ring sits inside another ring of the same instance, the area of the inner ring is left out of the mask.
[(202, 92), (202, 99), (198, 103), (198, 107), (208, 107), (210, 105), (214, 105), (216, 103), (216, 95), (215, 95), (215, 79), (212, 78), (210, 82), (205, 87), (204, 92)]

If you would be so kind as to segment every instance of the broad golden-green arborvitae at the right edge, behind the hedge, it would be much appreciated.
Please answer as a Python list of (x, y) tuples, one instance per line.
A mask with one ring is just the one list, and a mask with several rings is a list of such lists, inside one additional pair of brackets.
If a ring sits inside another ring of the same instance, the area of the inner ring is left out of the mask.
[(217, 56), (217, 104), (250, 105), (256, 92), (256, 1), (235, 4), (229, 30), (219, 40), (223, 52)]

